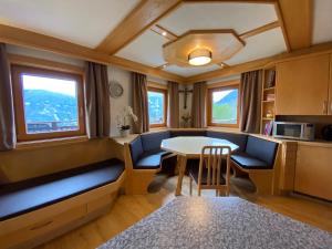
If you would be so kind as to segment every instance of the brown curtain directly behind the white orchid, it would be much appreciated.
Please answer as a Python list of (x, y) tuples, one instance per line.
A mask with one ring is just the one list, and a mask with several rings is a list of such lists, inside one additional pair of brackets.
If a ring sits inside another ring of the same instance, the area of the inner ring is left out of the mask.
[(148, 132), (148, 102), (147, 102), (147, 81), (146, 75), (132, 73), (133, 84), (133, 111), (138, 117), (134, 123), (134, 133)]

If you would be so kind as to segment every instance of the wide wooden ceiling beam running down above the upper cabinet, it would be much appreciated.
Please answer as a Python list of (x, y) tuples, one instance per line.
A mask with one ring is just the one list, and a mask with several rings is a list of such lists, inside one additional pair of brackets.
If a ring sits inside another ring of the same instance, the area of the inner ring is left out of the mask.
[(305, 49), (312, 42), (312, 0), (279, 0), (290, 50)]

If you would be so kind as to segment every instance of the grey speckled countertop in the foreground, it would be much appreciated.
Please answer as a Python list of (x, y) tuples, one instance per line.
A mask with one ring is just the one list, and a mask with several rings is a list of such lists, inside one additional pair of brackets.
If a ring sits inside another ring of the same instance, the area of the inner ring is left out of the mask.
[(328, 249), (331, 245), (331, 234), (238, 197), (178, 197), (98, 249)]

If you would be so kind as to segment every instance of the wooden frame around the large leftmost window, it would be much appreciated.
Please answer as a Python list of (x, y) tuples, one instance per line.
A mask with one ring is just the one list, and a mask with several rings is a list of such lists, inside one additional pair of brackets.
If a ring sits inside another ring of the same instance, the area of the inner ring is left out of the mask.
[[(77, 89), (77, 110), (79, 110), (79, 129), (68, 132), (51, 132), (51, 133), (37, 133), (28, 134), (24, 118), (24, 106), (23, 106), (23, 92), (22, 92), (22, 73), (29, 73), (31, 75), (56, 77), (64, 80), (74, 80)], [(18, 142), (28, 141), (41, 141), (41, 139), (53, 139), (64, 138), (85, 135), (85, 112), (84, 112), (84, 77), (80, 73), (62, 72), (56, 70), (49, 70), (35, 66), (28, 66), (21, 64), (11, 65), (12, 75), (12, 89), (13, 89), (13, 104), (15, 113), (15, 128)]]

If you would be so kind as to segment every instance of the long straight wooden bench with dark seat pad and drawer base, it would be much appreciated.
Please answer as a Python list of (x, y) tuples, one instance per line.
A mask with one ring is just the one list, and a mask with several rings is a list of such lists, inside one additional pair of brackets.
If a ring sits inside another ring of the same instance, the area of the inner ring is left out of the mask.
[(34, 247), (101, 215), (116, 197), (124, 170), (124, 163), (112, 158), (0, 186), (1, 248)]

